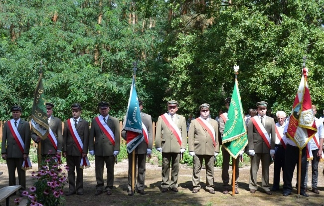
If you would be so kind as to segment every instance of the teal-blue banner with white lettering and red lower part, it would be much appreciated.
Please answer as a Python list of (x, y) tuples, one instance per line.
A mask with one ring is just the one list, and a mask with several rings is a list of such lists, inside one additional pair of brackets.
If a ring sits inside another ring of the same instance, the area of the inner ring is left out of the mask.
[(141, 109), (137, 97), (134, 76), (126, 113), (125, 130), (127, 131), (127, 151), (128, 153), (132, 153), (133, 150), (144, 140)]

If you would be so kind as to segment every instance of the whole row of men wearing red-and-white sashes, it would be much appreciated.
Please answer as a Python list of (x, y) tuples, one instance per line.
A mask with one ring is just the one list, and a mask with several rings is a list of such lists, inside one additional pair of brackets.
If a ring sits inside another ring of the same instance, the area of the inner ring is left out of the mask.
[[(229, 108), (231, 98), (225, 99), (225, 106)], [(176, 114), (178, 102), (171, 100), (167, 102), (167, 112), (161, 115), (156, 127), (156, 149), (162, 153), (162, 184), (161, 192), (168, 190), (178, 192), (178, 173), (179, 163), (183, 153), (186, 150), (188, 135), (189, 155), (193, 157), (192, 173), (192, 193), (198, 193), (200, 186), (200, 171), (202, 163), (206, 166), (206, 187), (205, 190), (210, 194), (214, 192), (214, 163), (219, 153), (221, 138), (224, 132), (227, 113), (219, 117), (219, 125), (216, 120), (210, 118), (209, 104), (199, 106), (200, 116), (192, 119), (188, 134), (185, 118)], [(151, 157), (153, 147), (153, 128), (150, 115), (142, 112), (143, 101), (139, 99), (141, 118), (143, 125), (144, 140), (135, 149), (135, 177), (137, 167), (137, 181), (135, 190), (141, 195), (145, 195), (145, 164), (146, 158)], [(248, 136), (248, 154), (251, 157), (250, 170), (250, 193), (254, 194), (257, 190), (257, 172), (260, 161), (262, 163), (262, 189), (267, 195), (272, 195), (271, 191), (279, 190), (280, 171), (283, 170), (283, 195), (288, 196), (292, 192), (292, 178), (295, 166), (298, 162), (299, 148), (296, 144), (286, 138), (288, 123), (285, 122), (286, 113), (278, 111), (276, 117), (278, 123), (275, 124), (273, 118), (266, 116), (267, 102), (258, 102), (256, 104), (257, 115), (251, 116), (247, 121)], [(82, 119), (82, 107), (75, 103), (71, 105), (72, 118), (64, 122), (62, 133), (61, 120), (52, 116), (54, 104), (46, 103), (47, 118), (50, 127), (48, 138), (42, 140), (35, 133), (31, 133), (29, 123), (20, 119), (22, 108), (19, 105), (11, 107), (12, 119), (4, 124), (1, 155), (7, 162), (9, 174), (9, 186), (15, 185), (15, 170), (17, 169), (20, 195), (25, 190), (25, 171), (21, 167), (28, 164), (28, 154), (30, 147), (30, 137), (36, 142), (41, 143), (41, 155), (51, 155), (53, 157), (66, 157), (69, 180), (69, 191), (66, 196), (83, 195), (83, 169), (81, 166), (89, 166), (87, 153), (95, 156), (96, 173), (96, 193), (98, 196), (105, 192), (112, 195), (114, 184), (114, 165), (116, 157), (120, 151), (120, 134), (126, 139), (127, 131), (122, 129), (120, 133), (119, 121), (117, 118), (109, 115), (110, 104), (100, 102), (98, 104), (100, 115), (95, 117), (89, 129), (89, 123)], [(316, 107), (313, 105), (313, 112), (316, 113)], [(125, 121), (124, 121), (125, 125)], [(323, 123), (316, 119), (318, 133), (310, 141), (310, 148), (314, 159), (312, 160), (312, 191), (319, 194), (317, 190), (318, 162), (322, 156), (324, 130)], [(220, 138), (218, 138), (218, 131)], [(231, 190), (229, 184), (229, 162), (230, 154), (222, 148), (223, 155), (223, 194), (228, 194)], [(274, 160), (274, 184), (270, 190), (269, 184), (269, 166)], [(235, 194), (238, 194), (238, 163), (236, 162), (235, 175)], [(107, 183), (104, 187), (103, 172), (104, 166), (107, 168)], [(306, 148), (302, 150), (302, 171), (301, 185), (303, 190), (301, 195), (308, 197), (307, 191), (307, 154)], [(26, 166), (25, 166), (26, 167)], [(129, 177), (128, 177), (128, 195), (132, 196), (132, 154), (129, 154)], [(171, 167), (171, 178), (169, 177)], [(75, 181), (75, 170), (77, 178)], [(232, 177), (233, 178), (233, 177)]]

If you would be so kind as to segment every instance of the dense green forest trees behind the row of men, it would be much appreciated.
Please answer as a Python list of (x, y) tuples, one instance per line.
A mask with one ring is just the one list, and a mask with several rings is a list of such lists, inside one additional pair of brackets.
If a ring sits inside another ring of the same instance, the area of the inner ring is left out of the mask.
[(1, 0), (0, 120), (14, 104), (30, 119), (40, 68), (56, 117), (78, 102), (90, 121), (105, 100), (122, 120), (133, 62), (154, 121), (171, 99), (186, 118), (209, 103), (214, 118), (234, 65), (245, 112), (262, 100), (290, 114), (304, 56), (323, 109), (323, 20), (324, 0)]

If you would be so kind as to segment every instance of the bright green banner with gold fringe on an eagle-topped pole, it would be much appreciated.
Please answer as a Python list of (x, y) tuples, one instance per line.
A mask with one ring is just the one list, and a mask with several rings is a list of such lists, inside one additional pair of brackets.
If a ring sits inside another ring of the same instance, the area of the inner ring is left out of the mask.
[(241, 96), (236, 78), (227, 118), (228, 120), (225, 123), (222, 139), (222, 147), (224, 147), (229, 154), (236, 159), (237, 156), (239, 156), (240, 151), (248, 144)]

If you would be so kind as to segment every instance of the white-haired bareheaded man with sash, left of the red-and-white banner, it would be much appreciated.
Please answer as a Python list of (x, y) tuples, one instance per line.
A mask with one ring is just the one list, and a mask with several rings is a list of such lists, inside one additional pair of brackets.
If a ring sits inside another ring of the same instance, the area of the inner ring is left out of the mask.
[(284, 111), (278, 111), (276, 113), (278, 122), (276, 123), (276, 146), (275, 146), (275, 158), (274, 158), (274, 171), (273, 171), (273, 186), (272, 191), (279, 190), (280, 173), (281, 170), (285, 171), (285, 152), (286, 152), (286, 135), (284, 135), (284, 129), (286, 126), (285, 119), (286, 113)]

